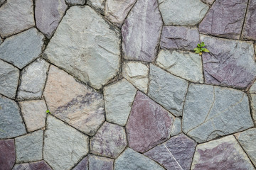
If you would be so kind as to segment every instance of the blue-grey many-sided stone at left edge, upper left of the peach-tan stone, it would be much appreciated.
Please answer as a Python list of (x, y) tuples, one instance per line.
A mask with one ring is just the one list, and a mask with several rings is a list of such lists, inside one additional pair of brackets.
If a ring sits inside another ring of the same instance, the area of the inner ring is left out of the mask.
[(43, 38), (36, 28), (6, 38), (0, 45), (0, 59), (22, 69), (41, 54)]

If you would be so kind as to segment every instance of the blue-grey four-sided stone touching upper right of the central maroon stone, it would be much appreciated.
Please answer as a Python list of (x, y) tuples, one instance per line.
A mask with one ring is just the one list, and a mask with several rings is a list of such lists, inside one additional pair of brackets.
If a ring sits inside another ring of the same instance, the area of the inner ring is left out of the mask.
[(182, 115), (188, 82), (150, 65), (149, 96), (176, 116)]

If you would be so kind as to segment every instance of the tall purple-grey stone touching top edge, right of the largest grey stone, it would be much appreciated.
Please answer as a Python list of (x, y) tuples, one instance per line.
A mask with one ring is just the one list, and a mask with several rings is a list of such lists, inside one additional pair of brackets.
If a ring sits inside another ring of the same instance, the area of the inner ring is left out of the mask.
[(122, 26), (124, 59), (153, 62), (162, 28), (156, 0), (138, 0)]

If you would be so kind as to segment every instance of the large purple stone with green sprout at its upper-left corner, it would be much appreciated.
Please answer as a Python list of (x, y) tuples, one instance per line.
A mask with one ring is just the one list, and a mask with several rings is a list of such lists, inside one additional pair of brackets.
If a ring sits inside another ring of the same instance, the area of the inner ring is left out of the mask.
[[(238, 10), (239, 11), (239, 10)], [(245, 88), (255, 79), (256, 63), (250, 42), (201, 35), (210, 53), (203, 53), (207, 84)]]

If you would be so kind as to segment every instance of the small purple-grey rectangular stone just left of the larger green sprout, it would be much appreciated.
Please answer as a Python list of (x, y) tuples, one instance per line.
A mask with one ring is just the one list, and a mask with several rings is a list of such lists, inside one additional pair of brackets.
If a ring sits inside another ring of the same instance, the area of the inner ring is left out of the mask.
[(198, 43), (197, 28), (185, 26), (164, 26), (161, 33), (160, 47), (170, 50), (193, 50)]

